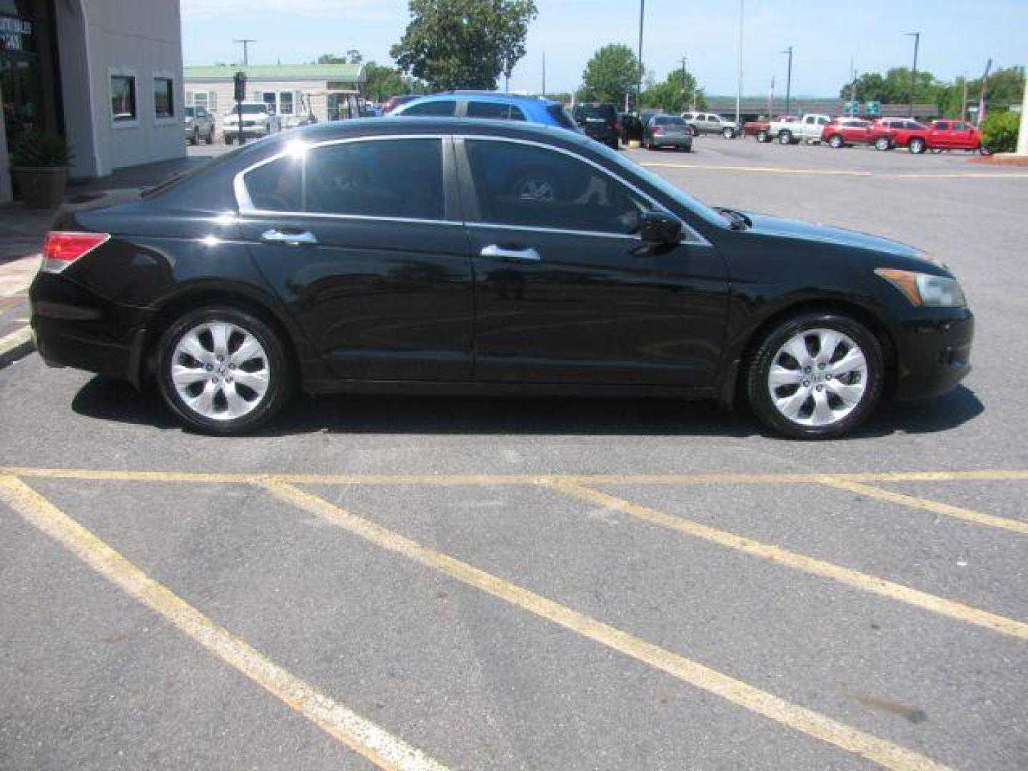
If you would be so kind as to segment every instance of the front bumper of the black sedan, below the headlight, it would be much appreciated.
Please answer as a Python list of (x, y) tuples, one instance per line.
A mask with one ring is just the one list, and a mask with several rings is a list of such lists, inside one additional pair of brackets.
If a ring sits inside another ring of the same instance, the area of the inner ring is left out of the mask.
[(932, 308), (901, 322), (896, 397), (942, 396), (970, 372), (975, 316), (967, 308)]

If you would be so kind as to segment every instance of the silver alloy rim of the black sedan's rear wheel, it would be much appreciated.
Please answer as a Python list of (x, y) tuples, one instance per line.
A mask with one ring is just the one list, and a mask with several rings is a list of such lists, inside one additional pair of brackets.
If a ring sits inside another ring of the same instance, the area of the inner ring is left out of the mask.
[(172, 355), (172, 382), (182, 403), (212, 420), (251, 412), (264, 399), (270, 376), (260, 341), (227, 322), (198, 324)]

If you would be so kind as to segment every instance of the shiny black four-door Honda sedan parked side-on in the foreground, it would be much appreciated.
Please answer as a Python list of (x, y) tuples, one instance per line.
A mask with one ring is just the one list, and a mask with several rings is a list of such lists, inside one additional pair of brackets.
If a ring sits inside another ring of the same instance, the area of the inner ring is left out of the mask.
[(901, 244), (711, 209), (598, 143), (506, 121), (319, 124), (73, 199), (39, 353), (238, 434), (308, 393), (745, 401), (841, 435), (968, 371), (956, 279)]

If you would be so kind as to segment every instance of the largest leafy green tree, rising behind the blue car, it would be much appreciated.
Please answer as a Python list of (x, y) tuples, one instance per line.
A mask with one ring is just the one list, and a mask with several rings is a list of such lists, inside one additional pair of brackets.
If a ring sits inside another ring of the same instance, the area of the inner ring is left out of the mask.
[(436, 89), (495, 88), (524, 56), (534, 0), (410, 0), (410, 24), (390, 54)]

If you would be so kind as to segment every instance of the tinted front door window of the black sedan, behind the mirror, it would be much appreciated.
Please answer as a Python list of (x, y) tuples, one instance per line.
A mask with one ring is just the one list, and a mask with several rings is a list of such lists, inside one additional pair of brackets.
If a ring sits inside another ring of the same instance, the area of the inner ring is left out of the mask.
[(563, 153), (512, 142), (466, 146), (484, 222), (630, 234), (649, 208), (611, 175)]

